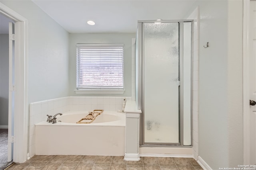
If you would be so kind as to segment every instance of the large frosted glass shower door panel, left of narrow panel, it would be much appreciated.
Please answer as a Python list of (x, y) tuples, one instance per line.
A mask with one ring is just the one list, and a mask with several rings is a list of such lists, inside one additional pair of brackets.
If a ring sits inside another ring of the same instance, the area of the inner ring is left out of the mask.
[(143, 23), (144, 142), (179, 143), (178, 23)]

